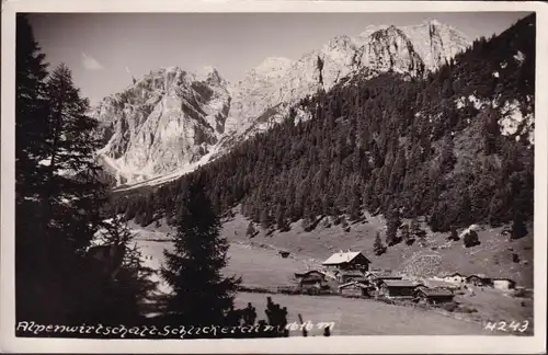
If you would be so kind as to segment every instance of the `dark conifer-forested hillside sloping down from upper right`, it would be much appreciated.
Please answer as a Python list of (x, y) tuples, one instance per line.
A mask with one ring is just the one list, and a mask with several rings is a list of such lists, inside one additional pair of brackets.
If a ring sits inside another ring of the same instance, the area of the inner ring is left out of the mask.
[[(172, 217), (203, 180), (218, 211), (263, 227), (319, 215), (426, 216), (434, 231), (533, 218), (535, 14), (480, 38), (424, 79), (353, 77), (301, 101), (267, 133), (160, 187), (118, 193), (141, 225)], [(301, 119), (301, 113), (310, 119)]]

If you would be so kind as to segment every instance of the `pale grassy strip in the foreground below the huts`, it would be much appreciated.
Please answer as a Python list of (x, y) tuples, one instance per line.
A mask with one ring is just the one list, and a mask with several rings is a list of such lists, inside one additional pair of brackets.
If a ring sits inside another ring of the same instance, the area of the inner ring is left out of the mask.
[[(479, 323), (465, 322), (445, 317), (433, 311), (411, 307), (392, 306), (366, 299), (341, 297), (315, 297), (289, 295), (264, 295), (241, 293), (237, 296), (236, 306), (246, 307), (253, 304), (258, 319), (265, 319), (266, 297), (274, 302), (287, 307), (289, 323), (302, 320), (318, 322), (335, 322), (333, 335), (489, 335)], [(292, 335), (300, 336), (299, 332)], [(321, 336), (315, 329), (311, 336)]]

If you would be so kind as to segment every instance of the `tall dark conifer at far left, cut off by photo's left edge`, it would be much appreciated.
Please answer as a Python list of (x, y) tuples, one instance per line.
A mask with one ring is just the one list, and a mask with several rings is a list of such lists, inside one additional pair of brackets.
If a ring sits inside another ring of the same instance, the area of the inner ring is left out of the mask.
[(54, 305), (61, 305), (54, 297), (48, 309), (36, 301), (47, 287), (37, 198), (44, 176), (39, 162), (45, 156), (47, 65), (24, 15), (16, 16), (15, 39), (15, 317), (39, 321), (56, 313)]

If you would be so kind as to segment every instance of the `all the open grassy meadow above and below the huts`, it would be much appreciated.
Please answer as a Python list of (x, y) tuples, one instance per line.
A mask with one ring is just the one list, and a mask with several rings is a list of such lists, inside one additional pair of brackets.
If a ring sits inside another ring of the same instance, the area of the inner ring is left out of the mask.
[[(275, 232), (271, 237), (261, 232), (251, 240), (246, 237), (247, 226), (248, 220), (237, 215), (231, 220), (226, 221), (222, 227), (222, 234), (230, 241), (228, 252), (230, 260), (225, 272), (227, 275), (241, 276), (242, 284), (247, 286), (276, 287), (292, 284), (295, 272), (318, 266), (331, 252), (347, 248), (363, 250), (372, 259), (373, 266), (391, 270), (406, 268), (413, 255), (421, 254), (441, 255), (441, 271), (458, 270), (463, 273), (482, 272), (486, 274), (496, 272), (518, 280), (520, 276), (524, 279), (528, 267), (532, 266), (530, 264), (518, 265), (512, 263), (511, 260), (500, 259), (500, 255), (507, 251), (507, 243), (500, 244), (501, 241), (494, 237), (495, 233), (489, 230), (479, 233), (482, 245), (471, 250), (464, 249), (460, 242), (448, 249), (436, 251), (430, 250), (430, 247), (423, 249), (419, 245), (400, 244), (389, 249), (388, 253), (383, 256), (375, 256), (368, 251), (372, 250), (375, 231), (384, 226), (380, 217), (368, 216), (367, 224), (354, 225), (350, 232), (344, 232), (340, 226), (323, 228), (321, 224), (317, 230), (305, 232), (298, 224), (295, 224), (288, 232)], [(163, 250), (169, 248), (170, 243), (147, 239), (158, 240), (162, 236), (165, 238), (171, 228), (165, 225), (161, 225), (159, 228), (149, 226), (142, 229), (136, 226), (130, 227), (139, 230), (138, 244), (144, 254), (151, 256), (147, 263), (158, 268), (163, 259)], [(518, 251), (522, 257), (522, 253), (532, 252), (532, 250), (523, 250), (523, 247), (532, 242), (529, 238), (512, 243), (512, 248)], [(434, 233), (429, 237), (430, 245), (444, 243), (444, 234)], [(278, 250), (288, 250), (292, 254), (288, 259), (282, 259)], [(495, 259), (500, 259), (499, 264), (494, 264)], [(532, 275), (527, 277), (532, 277)], [(165, 286), (162, 286), (161, 289), (167, 290)], [(259, 318), (264, 318), (266, 296), (264, 294), (242, 293), (237, 296), (237, 306), (252, 302), (258, 309)], [(459, 314), (461, 319), (483, 322), (506, 321), (509, 323), (528, 320), (532, 324), (530, 329), (533, 329), (530, 299), (524, 300), (526, 302), (524, 307), (522, 299), (509, 297), (498, 290), (477, 288), (473, 296), (460, 295), (457, 296), (456, 300), (479, 311), (472, 314)], [(335, 321), (341, 333), (335, 330), (334, 334), (478, 334), (478, 332), (482, 332), (480, 323), (477, 322), (468, 323), (433, 311), (363, 299), (275, 295), (274, 301), (288, 308), (289, 322), (297, 320), (298, 313), (301, 313), (305, 320), (310, 319), (312, 322)], [(416, 327), (419, 322), (422, 324), (421, 327)]]

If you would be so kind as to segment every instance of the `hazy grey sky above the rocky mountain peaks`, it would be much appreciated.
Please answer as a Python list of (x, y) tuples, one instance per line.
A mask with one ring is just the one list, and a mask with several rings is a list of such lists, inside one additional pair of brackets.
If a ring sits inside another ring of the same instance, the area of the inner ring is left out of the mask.
[(215, 66), (231, 82), (267, 57), (299, 59), (336, 35), (367, 25), (437, 20), (470, 39), (499, 34), (526, 12), (437, 13), (33, 13), (34, 36), (52, 67), (65, 62), (96, 104), (162, 67)]

